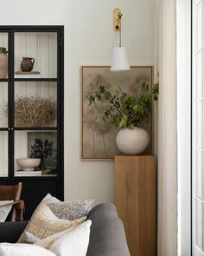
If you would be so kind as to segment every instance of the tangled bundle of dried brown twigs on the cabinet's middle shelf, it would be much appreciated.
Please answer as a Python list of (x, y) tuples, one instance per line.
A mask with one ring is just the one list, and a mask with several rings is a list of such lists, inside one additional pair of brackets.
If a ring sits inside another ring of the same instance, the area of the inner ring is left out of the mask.
[(16, 96), (16, 127), (43, 127), (52, 124), (56, 118), (56, 101), (41, 96)]

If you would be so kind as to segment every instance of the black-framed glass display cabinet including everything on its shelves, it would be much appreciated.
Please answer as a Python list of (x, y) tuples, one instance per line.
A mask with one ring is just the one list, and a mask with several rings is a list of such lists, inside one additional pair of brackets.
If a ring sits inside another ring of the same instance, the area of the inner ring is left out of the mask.
[(26, 219), (47, 193), (63, 200), (63, 36), (0, 26), (0, 184), (22, 181)]

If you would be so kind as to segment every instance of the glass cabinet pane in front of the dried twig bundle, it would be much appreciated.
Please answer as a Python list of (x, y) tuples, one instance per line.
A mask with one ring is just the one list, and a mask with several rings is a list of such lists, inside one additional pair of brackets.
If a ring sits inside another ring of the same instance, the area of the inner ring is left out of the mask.
[(14, 127), (57, 126), (57, 82), (15, 82)]

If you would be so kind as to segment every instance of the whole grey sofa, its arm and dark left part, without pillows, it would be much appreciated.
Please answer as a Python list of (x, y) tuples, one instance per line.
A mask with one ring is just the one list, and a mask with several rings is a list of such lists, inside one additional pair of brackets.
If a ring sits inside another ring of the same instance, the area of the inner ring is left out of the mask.
[[(124, 226), (112, 204), (100, 204), (89, 213), (92, 220), (87, 256), (130, 256)], [(0, 223), (0, 242), (15, 243), (28, 221)], [(39, 255), (40, 256), (40, 255)]]

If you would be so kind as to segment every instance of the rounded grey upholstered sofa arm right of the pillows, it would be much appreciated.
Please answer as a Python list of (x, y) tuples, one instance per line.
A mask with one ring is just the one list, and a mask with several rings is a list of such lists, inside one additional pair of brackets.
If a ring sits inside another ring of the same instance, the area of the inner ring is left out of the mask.
[(99, 204), (89, 213), (88, 219), (92, 220), (92, 230), (86, 256), (131, 256), (123, 222), (114, 205)]

